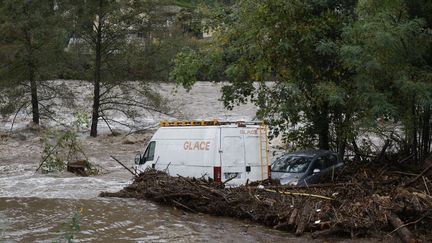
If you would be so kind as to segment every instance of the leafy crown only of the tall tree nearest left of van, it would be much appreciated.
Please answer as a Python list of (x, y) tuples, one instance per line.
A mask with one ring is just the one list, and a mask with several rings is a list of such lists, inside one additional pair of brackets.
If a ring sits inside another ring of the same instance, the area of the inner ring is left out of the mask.
[[(167, 1), (63, 2), (70, 10), (66, 20), (75, 38), (68, 47), (68, 77), (94, 81), (98, 72), (102, 83), (167, 79), (175, 52), (189, 41), (166, 26), (176, 14), (165, 8)], [(100, 29), (95, 28), (98, 24)]]

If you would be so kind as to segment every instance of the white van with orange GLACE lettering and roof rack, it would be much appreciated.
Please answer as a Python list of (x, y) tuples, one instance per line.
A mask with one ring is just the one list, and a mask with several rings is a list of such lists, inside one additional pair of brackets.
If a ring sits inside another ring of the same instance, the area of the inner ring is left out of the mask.
[(230, 179), (229, 185), (264, 180), (270, 176), (267, 126), (258, 122), (161, 122), (135, 164), (137, 172), (152, 167), (172, 176), (216, 182)]

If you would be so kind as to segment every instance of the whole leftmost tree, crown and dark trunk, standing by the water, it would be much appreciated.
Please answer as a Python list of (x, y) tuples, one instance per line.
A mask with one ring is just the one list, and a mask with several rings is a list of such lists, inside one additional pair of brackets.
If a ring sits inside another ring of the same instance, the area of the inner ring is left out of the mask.
[(41, 80), (57, 76), (64, 44), (55, 1), (0, 2), (0, 80), (9, 87), (3, 113), (28, 106), (30, 97), (33, 122), (40, 121), (38, 86)]

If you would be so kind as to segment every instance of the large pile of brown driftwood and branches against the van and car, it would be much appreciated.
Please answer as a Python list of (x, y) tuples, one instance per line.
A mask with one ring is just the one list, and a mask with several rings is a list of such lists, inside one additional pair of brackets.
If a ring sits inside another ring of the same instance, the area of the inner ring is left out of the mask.
[(432, 241), (431, 181), (427, 172), (351, 164), (333, 181), (308, 187), (246, 185), (225, 188), (211, 180), (170, 177), (148, 170), (117, 193), (101, 196), (148, 199), (190, 212), (249, 219), (312, 236), (385, 237)]

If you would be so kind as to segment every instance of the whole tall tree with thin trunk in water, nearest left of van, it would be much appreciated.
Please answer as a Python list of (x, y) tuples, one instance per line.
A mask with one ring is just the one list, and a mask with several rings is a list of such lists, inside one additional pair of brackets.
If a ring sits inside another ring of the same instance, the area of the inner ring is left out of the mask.
[[(83, 70), (82, 78), (92, 81), (93, 109), (91, 136), (97, 136), (99, 118), (109, 123), (128, 124), (109, 117), (112, 111), (128, 116), (132, 108), (158, 111), (152, 98), (142, 101), (118, 92), (130, 80), (168, 78), (171, 59), (189, 37), (172, 23), (175, 10), (166, 1), (63, 1), (77, 43), (70, 47), (74, 67)], [(174, 8), (176, 9), (176, 8)], [(84, 58), (81, 58), (84, 57)], [(70, 72), (74, 75), (75, 72)], [(143, 82), (144, 83), (144, 82)], [(148, 88), (134, 87), (144, 94)], [(126, 107), (126, 109), (124, 109)]]

